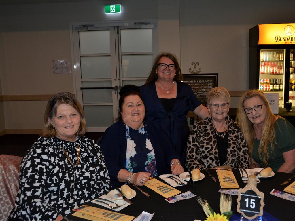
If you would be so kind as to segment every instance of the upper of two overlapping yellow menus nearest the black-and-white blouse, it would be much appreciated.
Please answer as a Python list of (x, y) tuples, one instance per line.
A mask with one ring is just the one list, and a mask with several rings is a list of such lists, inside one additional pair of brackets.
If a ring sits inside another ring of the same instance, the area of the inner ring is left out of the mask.
[(134, 216), (124, 215), (124, 214), (118, 213), (116, 211), (104, 210), (104, 209), (100, 209), (97, 207), (91, 207), (91, 206), (87, 206), (87, 205), (83, 205), (78, 208), (75, 208), (75, 209), (73, 209), (73, 211), (100, 218), (95, 221), (100, 221), (100, 220), (131, 221), (134, 218)]

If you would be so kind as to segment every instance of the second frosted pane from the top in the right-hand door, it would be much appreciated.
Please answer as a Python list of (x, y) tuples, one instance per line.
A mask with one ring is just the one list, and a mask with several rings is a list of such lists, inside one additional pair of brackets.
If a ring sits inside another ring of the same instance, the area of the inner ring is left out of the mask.
[(122, 55), (122, 77), (148, 77), (153, 55)]

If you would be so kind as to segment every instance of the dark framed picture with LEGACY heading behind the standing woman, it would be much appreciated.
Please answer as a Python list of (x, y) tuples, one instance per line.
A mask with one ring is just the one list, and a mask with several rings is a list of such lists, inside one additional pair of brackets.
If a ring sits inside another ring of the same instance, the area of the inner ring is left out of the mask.
[(218, 87), (218, 74), (183, 74), (182, 81), (191, 86), (201, 104), (206, 107), (207, 92)]

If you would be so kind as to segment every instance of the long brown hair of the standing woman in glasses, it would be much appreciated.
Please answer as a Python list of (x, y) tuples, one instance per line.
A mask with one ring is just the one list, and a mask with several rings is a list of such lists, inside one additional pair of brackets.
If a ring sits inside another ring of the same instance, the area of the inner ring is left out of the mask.
[(156, 80), (158, 80), (158, 75), (157, 75), (156, 71), (157, 71), (157, 67), (158, 67), (159, 60), (161, 59), (161, 57), (168, 57), (171, 61), (173, 61), (174, 65), (175, 65), (175, 70), (176, 70), (173, 80), (182, 81), (182, 73), (181, 73), (180, 66), (178, 64), (176, 56), (171, 53), (168, 53), (168, 52), (162, 52), (155, 58), (154, 63), (153, 63), (153, 68), (150, 71), (150, 75), (148, 76), (148, 79), (146, 80), (145, 84), (148, 84), (150, 82), (155, 82)]

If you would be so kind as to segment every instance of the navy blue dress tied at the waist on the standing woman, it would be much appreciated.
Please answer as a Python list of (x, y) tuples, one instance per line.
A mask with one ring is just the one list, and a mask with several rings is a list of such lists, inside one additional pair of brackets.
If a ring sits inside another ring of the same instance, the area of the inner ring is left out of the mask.
[(167, 112), (158, 99), (155, 82), (142, 85), (140, 93), (145, 103), (145, 118), (153, 121), (156, 125), (160, 125), (168, 134), (178, 155), (181, 156), (181, 165), (184, 165), (189, 137), (189, 125), (186, 121), (186, 116), (189, 111), (195, 110), (201, 102), (188, 84), (183, 82), (176, 83), (176, 102), (171, 112)]

